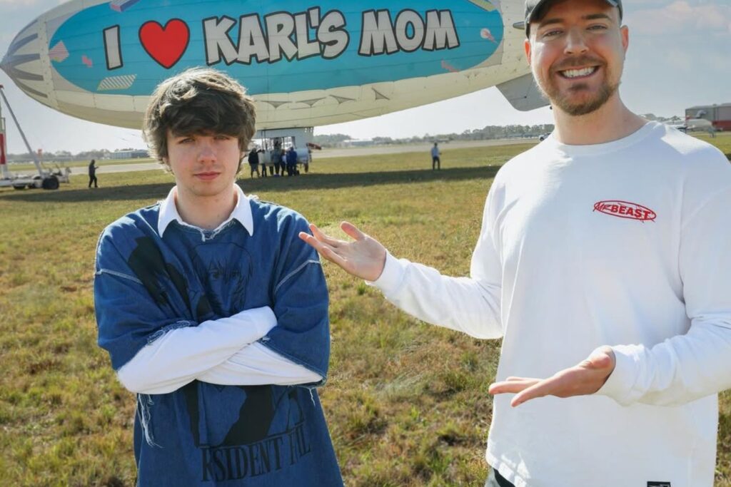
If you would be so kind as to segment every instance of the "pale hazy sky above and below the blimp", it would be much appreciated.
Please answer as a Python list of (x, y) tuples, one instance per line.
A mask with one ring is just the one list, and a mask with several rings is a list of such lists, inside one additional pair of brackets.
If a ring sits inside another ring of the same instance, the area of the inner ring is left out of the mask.
[[(506, 0), (504, 0), (506, 1)], [(31, 20), (62, 3), (58, 0), (0, 0), (0, 57)], [(635, 112), (683, 115), (697, 104), (731, 102), (730, 0), (629, 0), (624, 21), (630, 30), (621, 96)], [(309, 6), (309, 4), (308, 4)], [(18, 90), (4, 72), (15, 114), (31, 147), (46, 151), (144, 147), (140, 132), (91, 123), (51, 110)], [(24, 152), (7, 118), (8, 150)], [(408, 137), (462, 132), (486, 125), (551, 123), (546, 108), (518, 112), (496, 88), (378, 118), (315, 129), (355, 138)]]

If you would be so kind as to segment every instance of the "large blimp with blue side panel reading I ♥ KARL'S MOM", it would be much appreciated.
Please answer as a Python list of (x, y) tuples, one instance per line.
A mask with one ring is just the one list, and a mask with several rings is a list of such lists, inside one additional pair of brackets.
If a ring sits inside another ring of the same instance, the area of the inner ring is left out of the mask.
[(523, 0), (72, 0), (23, 28), (0, 69), (48, 107), (140, 129), (158, 83), (210, 66), (246, 87), (260, 134), (307, 139), (491, 86), (544, 106), (523, 20)]

